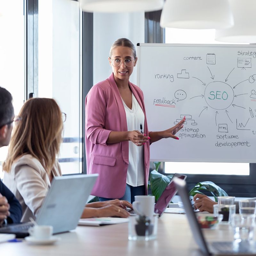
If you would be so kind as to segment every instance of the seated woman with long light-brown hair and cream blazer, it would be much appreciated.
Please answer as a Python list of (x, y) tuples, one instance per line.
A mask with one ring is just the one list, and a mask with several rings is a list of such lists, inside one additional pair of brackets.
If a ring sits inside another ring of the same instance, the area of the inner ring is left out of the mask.
[[(19, 116), (3, 164), (4, 183), (20, 201), (21, 221), (28, 221), (29, 217), (36, 218), (53, 177), (61, 175), (56, 156), (60, 151), (63, 122), (58, 104), (47, 98), (26, 101)], [(126, 207), (132, 205), (124, 200), (95, 202), (86, 205), (81, 218), (128, 217)]]

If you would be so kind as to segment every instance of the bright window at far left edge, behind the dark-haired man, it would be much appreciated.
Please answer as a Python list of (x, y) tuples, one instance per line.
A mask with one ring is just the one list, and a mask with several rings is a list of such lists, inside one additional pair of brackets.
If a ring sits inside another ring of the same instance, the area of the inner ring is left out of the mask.
[[(11, 92), (14, 112), (18, 115), (24, 101), (24, 15), (23, 1), (0, 1), (0, 86)], [(2, 162), (8, 148), (0, 148)]]

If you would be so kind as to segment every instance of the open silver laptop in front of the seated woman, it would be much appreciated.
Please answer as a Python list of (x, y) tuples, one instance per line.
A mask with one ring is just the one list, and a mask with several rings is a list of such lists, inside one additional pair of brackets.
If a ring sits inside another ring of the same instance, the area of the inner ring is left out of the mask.
[[(54, 177), (49, 192), (36, 216), (38, 225), (51, 225), (53, 234), (75, 229), (84, 210), (98, 174), (77, 174)], [(10, 224), (0, 228), (0, 233), (28, 236), (32, 222)]]

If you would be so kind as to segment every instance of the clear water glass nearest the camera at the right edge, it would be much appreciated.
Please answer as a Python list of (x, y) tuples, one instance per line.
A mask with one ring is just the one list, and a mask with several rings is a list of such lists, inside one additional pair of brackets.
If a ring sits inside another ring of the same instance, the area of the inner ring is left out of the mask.
[(250, 241), (253, 239), (253, 231), (255, 226), (254, 214), (232, 214), (231, 226), (234, 231), (234, 240), (236, 243)]

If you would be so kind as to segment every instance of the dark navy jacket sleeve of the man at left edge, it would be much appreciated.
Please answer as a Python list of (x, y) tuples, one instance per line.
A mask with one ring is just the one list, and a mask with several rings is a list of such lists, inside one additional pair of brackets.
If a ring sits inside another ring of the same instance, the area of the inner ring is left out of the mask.
[(4, 183), (0, 180), (0, 193), (2, 196), (5, 196), (8, 200), (8, 203), (10, 204), (10, 210), (9, 212), (11, 215), (7, 217), (7, 223), (19, 223), (21, 216), (22, 216), (22, 210), (19, 201), (16, 199), (16, 197), (12, 194), (12, 192), (7, 188)]

